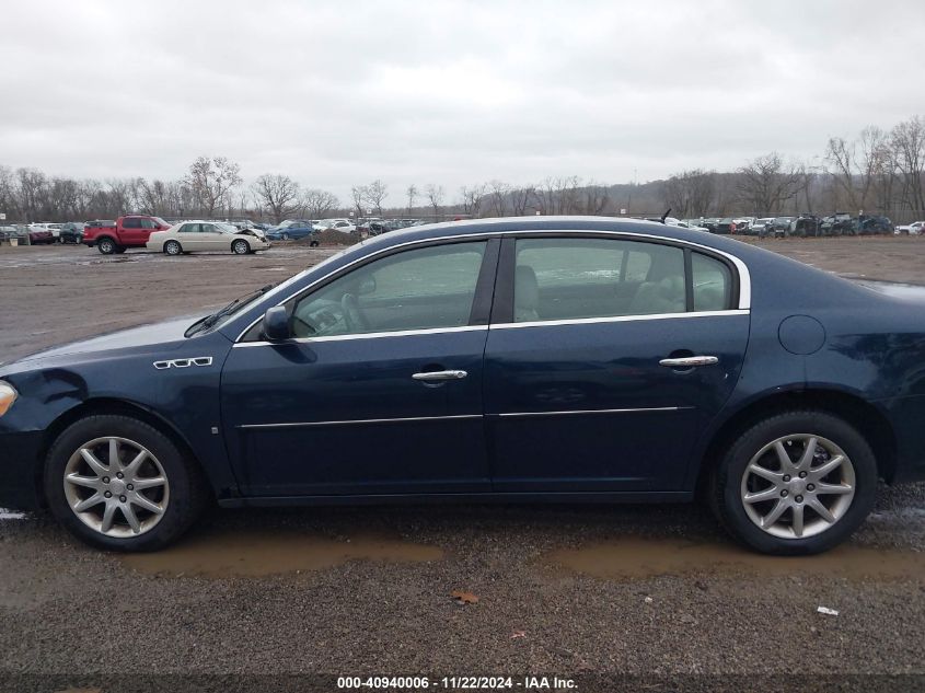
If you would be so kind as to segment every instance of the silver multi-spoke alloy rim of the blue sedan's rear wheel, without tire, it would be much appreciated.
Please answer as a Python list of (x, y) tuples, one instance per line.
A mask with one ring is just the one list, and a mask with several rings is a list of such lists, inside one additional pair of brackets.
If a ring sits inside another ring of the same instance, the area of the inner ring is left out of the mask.
[(805, 539), (837, 523), (855, 495), (855, 470), (831, 440), (812, 434), (783, 436), (764, 446), (742, 475), (749, 519), (773, 536)]

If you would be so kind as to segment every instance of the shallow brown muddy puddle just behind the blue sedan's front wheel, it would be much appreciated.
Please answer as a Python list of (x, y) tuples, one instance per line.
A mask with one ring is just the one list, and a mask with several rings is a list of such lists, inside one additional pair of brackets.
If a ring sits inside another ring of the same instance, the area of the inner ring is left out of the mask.
[(323, 570), (348, 561), (425, 563), (442, 557), (437, 546), (382, 536), (332, 539), (310, 532), (241, 531), (195, 535), (161, 552), (120, 559), (126, 567), (151, 575), (226, 578)]

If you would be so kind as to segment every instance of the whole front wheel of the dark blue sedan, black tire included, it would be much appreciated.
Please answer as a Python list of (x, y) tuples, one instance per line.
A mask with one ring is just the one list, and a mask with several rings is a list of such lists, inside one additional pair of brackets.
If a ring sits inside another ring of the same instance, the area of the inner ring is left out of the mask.
[[(146, 487), (136, 489), (131, 482)], [(88, 416), (66, 428), (46, 457), (44, 486), (49, 509), (68, 531), (91, 546), (123, 552), (167, 546), (189, 529), (209, 498), (195, 461), (157, 428), (122, 415)]]

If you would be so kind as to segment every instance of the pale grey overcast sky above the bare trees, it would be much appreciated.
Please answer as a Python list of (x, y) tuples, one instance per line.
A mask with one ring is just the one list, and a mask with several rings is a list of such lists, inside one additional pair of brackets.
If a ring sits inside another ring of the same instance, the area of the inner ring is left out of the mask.
[(2, 0), (0, 164), (643, 182), (822, 154), (925, 114), (923, 73), (923, 0)]

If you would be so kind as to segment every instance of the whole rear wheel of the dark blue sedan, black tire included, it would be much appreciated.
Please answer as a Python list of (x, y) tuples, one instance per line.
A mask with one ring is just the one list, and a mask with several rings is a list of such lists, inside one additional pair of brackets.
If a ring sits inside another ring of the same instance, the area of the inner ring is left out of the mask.
[[(810, 443), (813, 452), (807, 457)], [(822, 474), (836, 458), (842, 462)], [(735, 440), (710, 475), (710, 505), (720, 523), (750, 548), (817, 554), (864, 522), (877, 480), (874, 452), (853, 426), (826, 412), (791, 411), (752, 425)]]

